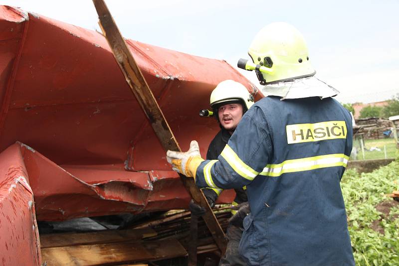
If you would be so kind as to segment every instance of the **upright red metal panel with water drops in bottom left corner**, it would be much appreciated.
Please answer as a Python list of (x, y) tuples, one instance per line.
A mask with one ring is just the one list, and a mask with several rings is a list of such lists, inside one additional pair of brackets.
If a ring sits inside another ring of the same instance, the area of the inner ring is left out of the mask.
[(33, 193), (18, 151), (0, 153), (0, 264), (38, 266), (41, 255)]

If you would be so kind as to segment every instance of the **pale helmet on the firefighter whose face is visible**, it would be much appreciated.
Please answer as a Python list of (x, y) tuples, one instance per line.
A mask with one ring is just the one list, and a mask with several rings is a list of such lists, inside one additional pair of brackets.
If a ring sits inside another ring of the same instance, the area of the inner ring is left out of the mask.
[(233, 80), (224, 80), (217, 84), (209, 99), (212, 109), (217, 109), (222, 103), (233, 101), (242, 104), (244, 112), (254, 104), (253, 97), (245, 86)]

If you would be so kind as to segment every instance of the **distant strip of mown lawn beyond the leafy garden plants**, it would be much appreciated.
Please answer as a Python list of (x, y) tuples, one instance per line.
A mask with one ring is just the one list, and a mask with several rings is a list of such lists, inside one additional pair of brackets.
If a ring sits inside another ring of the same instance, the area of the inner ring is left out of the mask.
[[(396, 146), (395, 146), (395, 139), (394, 138), (381, 138), (381, 139), (365, 139), (365, 159), (384, 159), (384, 145), (387, 149), (387, 158), (395, 158)], [(362, 149), (360, 147), (360, 140), (356, 139), (353, 141), (353, 146), (357, 148), (358, 155), (357, 158), (352, 156), (352, 159), (363, 159)], [(370, 151), (371, 147), (380, 148), (381, 151), (373, 150)]]

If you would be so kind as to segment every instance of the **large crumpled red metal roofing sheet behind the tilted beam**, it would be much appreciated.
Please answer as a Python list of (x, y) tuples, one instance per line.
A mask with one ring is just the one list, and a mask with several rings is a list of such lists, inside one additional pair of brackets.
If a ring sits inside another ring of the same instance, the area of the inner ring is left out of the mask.
[[(46, 221), (187, 208), (100, 33), (0, 6), (0, 42), (0, 188), (11, 167), (23, 168)], [(182, 149), (196, 139), (205, 156), (218, 126), (198, 113), (211, 90), (226, 79), (254, 85), (225, 61), (126, 42)], [(231, 202), (223, 193), (219, 201)]]

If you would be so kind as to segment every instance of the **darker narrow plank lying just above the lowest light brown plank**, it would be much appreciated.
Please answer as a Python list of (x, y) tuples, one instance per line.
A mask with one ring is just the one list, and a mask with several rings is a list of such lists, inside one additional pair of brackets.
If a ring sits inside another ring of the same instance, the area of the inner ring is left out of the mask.
[(40, 247), (54, 248), (64, 246), (77, 246), (88, 244), (106, 244), (143, 238), (154, 237), (157, 235), (151, 228), (131, 229), (131, 230), (107, 230), (91, 233), (59, 233), (40, 235)]

